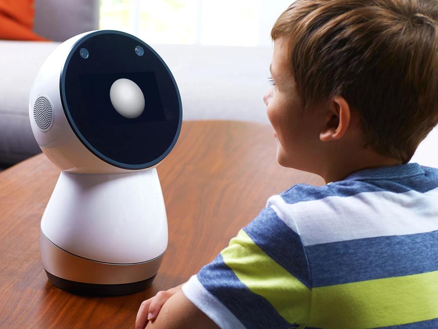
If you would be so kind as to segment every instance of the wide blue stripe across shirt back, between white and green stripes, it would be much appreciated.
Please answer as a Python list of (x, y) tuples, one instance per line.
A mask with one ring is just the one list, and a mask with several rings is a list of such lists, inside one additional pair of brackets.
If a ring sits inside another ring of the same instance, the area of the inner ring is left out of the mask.
[(438, 231), (305, 247), (312, 287), (438, 270)]

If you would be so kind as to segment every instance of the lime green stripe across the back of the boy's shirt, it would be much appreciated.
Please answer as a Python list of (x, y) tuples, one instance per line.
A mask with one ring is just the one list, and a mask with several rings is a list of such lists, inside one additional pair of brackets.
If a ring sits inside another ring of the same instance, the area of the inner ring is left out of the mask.
[(438, 317), (438, 271), (312, 289), (311, 327), (375, 328)]

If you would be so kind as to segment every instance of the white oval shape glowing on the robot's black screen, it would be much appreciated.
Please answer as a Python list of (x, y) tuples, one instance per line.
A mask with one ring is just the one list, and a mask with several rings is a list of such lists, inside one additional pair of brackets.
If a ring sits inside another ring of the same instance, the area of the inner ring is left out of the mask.
[(110, 88), (110, 99), (116, 111), (129, 119), (136, 118), (145, 109), (145, 96), (140, 87), (132, 80), (115, 80)]

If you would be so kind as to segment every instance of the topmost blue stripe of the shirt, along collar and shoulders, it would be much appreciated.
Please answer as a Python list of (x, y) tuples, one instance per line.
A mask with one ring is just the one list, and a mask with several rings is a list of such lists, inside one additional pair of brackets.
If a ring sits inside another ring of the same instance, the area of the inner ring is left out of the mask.
[[(413, 163), (408, 163), (414, 165)], [(415, 165), (418, 165), (415, 163)], [(289, 190), (280, 194), (286, 203), (294, 204), (301, 201), (320, 200), (328, 196), (347, 197), (363, 192), (394, 192), (403, 193), (417, 191), (424, 193), (438, 187), (438, 169), (430, 167), (411, 167), (410, 175), (384, 177), (381, 174), (350, 175), (353, 178), (333, 182), (320, 187), (308, 184), (295, 184)], [(415, 170), (414, 170), (415, 169)], [(376, 170), (377, 171), (377, 170)], [(368, 172), (368, 170), (364, 170)], [(379, 171), (377, 171), (378, 173)], [(360, 173), (360, 172), (359, 172)], [(362, 179), (362, 180), (361, 180)]]

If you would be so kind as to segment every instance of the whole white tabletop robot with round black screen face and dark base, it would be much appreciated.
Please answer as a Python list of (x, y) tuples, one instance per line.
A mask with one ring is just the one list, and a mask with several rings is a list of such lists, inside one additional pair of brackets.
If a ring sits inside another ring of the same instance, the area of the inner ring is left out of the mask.
[(167, 248), (156, 167), (182, 123), (163, 59), (120, 31), (68, 39), (38, 71), (29, 117), (41, 150), (62, 170), (41, 219), (49, 281), (95, 296), (148, 288)]

